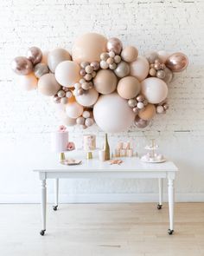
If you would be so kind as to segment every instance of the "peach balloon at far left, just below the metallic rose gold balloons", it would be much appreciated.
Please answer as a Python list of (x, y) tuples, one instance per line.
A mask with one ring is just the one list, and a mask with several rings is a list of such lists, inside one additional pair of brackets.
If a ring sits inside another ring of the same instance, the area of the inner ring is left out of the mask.
[(37, 88), (37, 78), (34, 73), (29, 75), (17, 75), (17, 84), (19, 84), (22, 89), (33, 90)]

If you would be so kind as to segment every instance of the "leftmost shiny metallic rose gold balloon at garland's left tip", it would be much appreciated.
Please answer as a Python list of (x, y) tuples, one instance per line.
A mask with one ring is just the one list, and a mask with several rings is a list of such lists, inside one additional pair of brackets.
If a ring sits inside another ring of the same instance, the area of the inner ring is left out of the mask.
[(33, 71), (33, 64), (26, 57), (18, 56), (11, 63), (11, 68), (17, 75), (29, 75)]

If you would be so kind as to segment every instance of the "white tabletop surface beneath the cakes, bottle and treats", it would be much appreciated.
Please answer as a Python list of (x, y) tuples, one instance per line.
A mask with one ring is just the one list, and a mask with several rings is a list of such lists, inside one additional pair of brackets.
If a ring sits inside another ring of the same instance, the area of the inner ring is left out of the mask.
[[(74, 154), (73, 154), (74, 155)], [(72, 156), (73, 156), (72, 155)], [(178, 168), (172, 161), (165, 161), (163, 163), (146, 163), (141, 161), (137, 157), (124, 157), (119, 158), (124, 162), (120, 165), (110, 164), (110, 161), (99, 161), (99, 159), (93, 158), (92, 160), (86, 160), (85, 155), (81, 157), (77, 157), (79, 155), (76, 154), (74, 159), (82, 160), (80, 165), (67, 166), (62, 165), (56, 156), (53, 161), (46, 162), (41, 167), (36, 167), (34, 169), (35, 172), (81, 172), (81, 171), (89, 171), (89, 172), (109, 172), (109, 171), (178, 171)]]

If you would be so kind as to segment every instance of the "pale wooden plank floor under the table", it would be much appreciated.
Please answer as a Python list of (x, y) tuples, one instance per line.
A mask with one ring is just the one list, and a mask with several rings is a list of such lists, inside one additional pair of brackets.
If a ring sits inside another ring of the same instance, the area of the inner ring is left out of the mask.
[(0, 255), (204, 256), (204, 203), (178, 203), (175, 213), (169, 236), (166, 204), (49, 206), (41, 237), (39, 205), (0, 205)]

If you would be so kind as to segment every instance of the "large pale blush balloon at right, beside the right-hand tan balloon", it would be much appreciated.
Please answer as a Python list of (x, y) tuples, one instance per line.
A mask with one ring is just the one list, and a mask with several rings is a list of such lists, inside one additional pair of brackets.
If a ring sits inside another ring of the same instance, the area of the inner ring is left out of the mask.
[(148, 102), (158, 104), (163, 102), (168, 95), (166, 82), (156, 77), (149, 77), (141, 82), (142, 94)]

